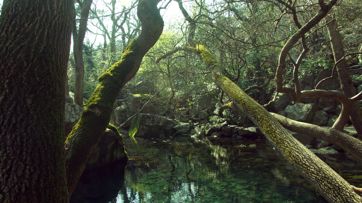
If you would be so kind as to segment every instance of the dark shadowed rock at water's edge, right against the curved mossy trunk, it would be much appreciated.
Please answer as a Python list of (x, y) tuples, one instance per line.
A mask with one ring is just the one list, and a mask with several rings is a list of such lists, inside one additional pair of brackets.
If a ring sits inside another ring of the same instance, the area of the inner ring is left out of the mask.
[(126, 160), (127, 154), (122, 137), (118, 137), (112, 130), (106, 129), (102, 138), (89, 156), (87, 169), (108, 165), (120, 160)]

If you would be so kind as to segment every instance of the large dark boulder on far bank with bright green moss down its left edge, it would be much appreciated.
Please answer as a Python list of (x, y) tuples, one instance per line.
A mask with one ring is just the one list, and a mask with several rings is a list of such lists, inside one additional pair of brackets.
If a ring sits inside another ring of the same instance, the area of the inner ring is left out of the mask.
[[(148, 113), (140, 113), (140, 121), (138, 130), (134, 136), (155, 136), (155, 135), (172, 135), (174, 132), (174, 126), (177, 126), (177, 122), (165, 116), (156, 116)], [(133, 119), (136, 119), (133, 118)], [(132, 121), (133, 122), (133, 121)]]

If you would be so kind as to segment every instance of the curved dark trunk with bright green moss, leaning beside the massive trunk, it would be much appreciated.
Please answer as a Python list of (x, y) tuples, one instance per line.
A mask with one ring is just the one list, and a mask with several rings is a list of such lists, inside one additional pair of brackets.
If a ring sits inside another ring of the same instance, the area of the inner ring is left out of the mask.
[(163, 31), (158, 2), (159, 0), (140, 0), (137, 15), (142, 23), (141, 34), (127, 46), (121, 60), (99, 77), (99, 85), (68, 136), (65, 148), (69, 195), (73, 193), (90, 153), (109, 124), (119, 91), (137, 73), (143, 56)]

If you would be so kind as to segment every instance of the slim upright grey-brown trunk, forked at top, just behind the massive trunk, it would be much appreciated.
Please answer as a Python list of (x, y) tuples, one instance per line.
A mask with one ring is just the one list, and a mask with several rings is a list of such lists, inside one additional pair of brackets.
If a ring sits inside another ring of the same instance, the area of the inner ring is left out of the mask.
[[(87, 31), (87, 22), (89, 16), (90, 5), (92, 0), (84, 0), (79, 6), (81, 7), (79, 28), (77, 22), (73, 21), (73, 55), (75, 62), (75, 88), (74, 102), (83, 107), (83, 83), (84, 83), (84, 61), (83, 61), (83, 41), (85, 32)], [(76, 17), (74, 9), (74, 17)]]

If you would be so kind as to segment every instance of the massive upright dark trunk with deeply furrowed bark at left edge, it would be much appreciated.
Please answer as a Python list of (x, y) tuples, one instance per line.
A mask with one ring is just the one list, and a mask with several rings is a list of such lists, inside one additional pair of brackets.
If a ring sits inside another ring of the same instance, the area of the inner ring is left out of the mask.
[(68, 202), (64, 86), (73, 1), (7, 0), (0, 17), (0, 202)]

